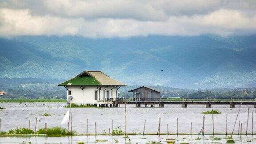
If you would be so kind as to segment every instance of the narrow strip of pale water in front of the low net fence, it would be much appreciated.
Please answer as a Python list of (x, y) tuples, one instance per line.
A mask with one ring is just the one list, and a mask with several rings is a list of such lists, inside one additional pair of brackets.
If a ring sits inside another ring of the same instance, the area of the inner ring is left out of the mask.
[[(227, 139), (226, 136), (216, 136), (220, 138), (220, 140), (214, 140), (212, 136), (128, 136), (128, 138), (124, 138), (124, 136), (66, 136), (66, 137), (1, 137), (1, 144), (9, 144), (9, 143), (29, 143), (32, 144), (44, 144), (44, 143), (66, 143), (66, 144), (77, 144), (78, 142), (84, 143), (96, 143), (101, 142), (105, 144), (112, 143), (131, 143), (131, 144), (167, 144), (168, 142), (174, 142), (175, 144), (180, 143), (200, 143), (200, 144), (225, 144)], [(253, 144), (255, 139), (252, 136), (242, 136), (242, 140), (240, 140), (239, 136), (233, 136), (233, 139), (236, 143), (247, 143)]]

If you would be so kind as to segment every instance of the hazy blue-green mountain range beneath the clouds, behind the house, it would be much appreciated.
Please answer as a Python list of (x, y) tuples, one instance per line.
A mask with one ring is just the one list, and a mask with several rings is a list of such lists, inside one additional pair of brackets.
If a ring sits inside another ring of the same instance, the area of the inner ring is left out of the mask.
[(256, 80), (255, 53), (255, 35), (22, 36), (0, 39), (0, 77), (61, 81), (88, 69), (129, 85), (233, 88)]

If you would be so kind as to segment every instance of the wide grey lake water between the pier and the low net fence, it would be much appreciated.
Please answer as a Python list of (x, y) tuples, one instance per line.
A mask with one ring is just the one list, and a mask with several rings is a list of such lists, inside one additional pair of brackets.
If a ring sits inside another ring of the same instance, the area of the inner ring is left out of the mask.
[[(6, 108), (0, 110), (1, 131), (8, 131), (12, 128), (27, 127), (28, 121), (31, 120), (31, 128), (35, 127), (35, 119), (38, 118), (37, 128), (44, 128), (47, 123), (48, 127), (62, 126), (60, 125), (64, 114), (68, 108), (64, 108), (64, 103), (0, 103), (0, 107)], [(248, 133), (252, 132), (252, 112), (254, 112), (254, 120), (256, 120), (255, 108), (250, 105), (250, 115), (248, 123)], [(181, 108), (181, 105), (165, 105), (165, 108), (135, 108), (135, 105), (128, 105), (127, 108), (127, 125), (128, 133), (142, 133), (144, 120), (146, 119), (145, 133), (156, 133), (158, 129), (159, 117), (161, 116), (161, 133), (167, 132), (167, 124), (169, 125), (169, 133), (176, 133), (176, 118), (179, 118), (179, 132), (189, 133), (190, 123), (192, 122), (192, 133), (200, 132), (202, 128), (203, 111), (217, 110), (222, 114), (214, 115), (215, 133), (226, 132), (226, 114), (228, 113), (228, 133), (232, 132), (232, 128), (239, 110), (229, 108), (229, 105), (212, 105), (212, 108), (205, 108), (205, 105), (188, 105), (188, 108)], [(242, 131), (246, 131), (248, 106), (243, 105), (237, 120), (235, 133), (238, 131), (238, 121), (243, 124)], [(95, 122), (97, 122), (97, 133), (108, 133), (111, 128), (111, 120), (113, 119), (113, 127), (119, 127), (124, 131), (124, 107), (121, 108), (71, 108), (73, 116), (73, 130), (77, 133), (86, 133), (86, 119), (88, 119), (88, 133), (95, 132)], [(51, 116), (42, 116), (48, 113)], [(256, 124), (256, 122), (254, 122)], [(212, 133), (212, 115), (205, 114), (205, 133)], [(256, 125), (254, 125), (254, 133), (256, 133)]]

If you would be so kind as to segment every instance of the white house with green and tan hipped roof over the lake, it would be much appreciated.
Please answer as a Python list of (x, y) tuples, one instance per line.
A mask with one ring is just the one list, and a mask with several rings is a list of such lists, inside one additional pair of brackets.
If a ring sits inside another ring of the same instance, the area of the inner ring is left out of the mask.
[(112, 104), (118, 89), (126, 86), (100, 71), (84, 71), (58, 86), (67, 89), (67, 102), (75, 104)]

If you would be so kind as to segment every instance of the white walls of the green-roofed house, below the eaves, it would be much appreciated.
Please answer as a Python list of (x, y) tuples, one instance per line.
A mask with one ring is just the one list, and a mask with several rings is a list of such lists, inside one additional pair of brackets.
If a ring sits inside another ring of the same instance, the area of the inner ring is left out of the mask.
[[(98, 88), (100, 87), (98, 86)], [(71, 91), (71, 95), (68, 95), (68, 91)], [(96, 86), (84, 86), (83, 90), (78, 86), (68, 86), (68, 91), (67, 99), (72, 96), (71, 102), (75, 104), (108, 104), (109, 102), (103, 102), (104, 98), (107, 98), (107, 91), (109, 91), (109, 98), (117, 97), (115, 86), (102, 86), (101, 90), (98, 90)], [(95, 91), (97, 91), (97, 100), (95, 100)]]

